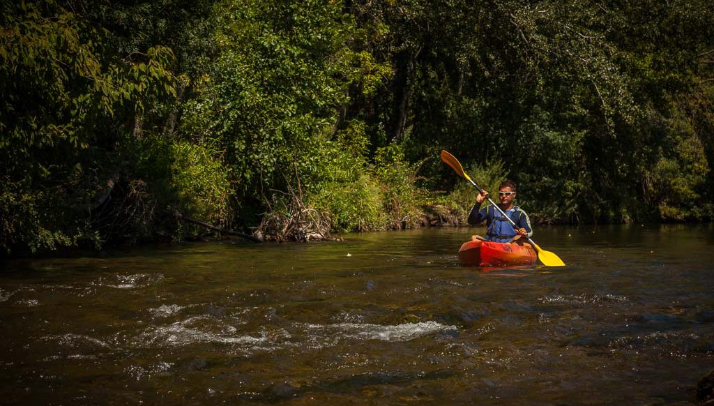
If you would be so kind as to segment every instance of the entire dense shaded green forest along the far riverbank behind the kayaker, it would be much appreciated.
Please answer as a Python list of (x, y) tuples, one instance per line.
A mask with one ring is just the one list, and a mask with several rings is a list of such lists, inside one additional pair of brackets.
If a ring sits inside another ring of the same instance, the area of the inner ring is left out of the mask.
[(0, 4), (4, 254), (714, 219), (708, 0)]

